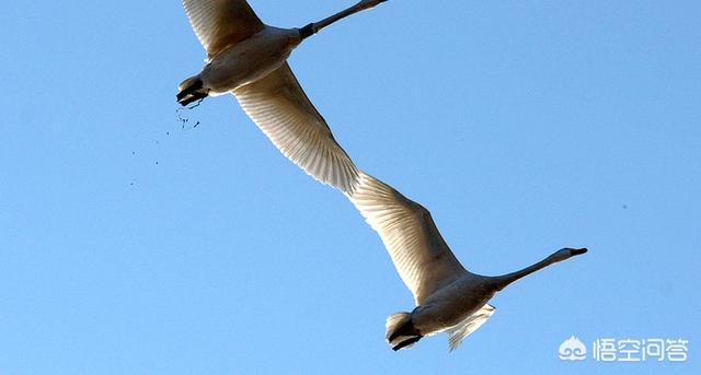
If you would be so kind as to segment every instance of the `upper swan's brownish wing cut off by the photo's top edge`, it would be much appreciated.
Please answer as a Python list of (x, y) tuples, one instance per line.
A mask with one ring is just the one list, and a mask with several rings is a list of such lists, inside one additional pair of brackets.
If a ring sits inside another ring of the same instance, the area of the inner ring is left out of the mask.
[(263, 30), (245, 0), (183, 0), (183, 7), (208, 56)]

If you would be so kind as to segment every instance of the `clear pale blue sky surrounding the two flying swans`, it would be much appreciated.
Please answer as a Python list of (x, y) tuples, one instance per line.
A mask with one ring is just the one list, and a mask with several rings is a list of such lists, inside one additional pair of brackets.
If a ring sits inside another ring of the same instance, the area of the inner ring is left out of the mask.
[[(251, 0), (302, 26), (347, 1)], [(290, 58), (356, 164), (514, 284), (453, 353), (393, 352), (413, 298), (346, 198), (233, 97), (182, 116), (204, 50), (179, 1), (0, 13), (0, 374), (701, 373), (698, 1), (399, 1)], [(199, 121), (197, 127), (194, 124)], [(686, 363), (558, 358), (687, 339)]]

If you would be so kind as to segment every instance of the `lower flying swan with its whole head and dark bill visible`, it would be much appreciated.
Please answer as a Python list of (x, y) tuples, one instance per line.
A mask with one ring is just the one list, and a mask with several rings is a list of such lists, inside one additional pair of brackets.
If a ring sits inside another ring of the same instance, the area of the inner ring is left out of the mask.
[(424, 336), (448, 333), (450, 351), (494, 313), (487, 302), (512, 282), (552, 263), (587, 251), (563, 248), (520, 271), (484, 277), (466, 270), (440, 236), (430, 213), (387, 184), (359, 172), (347, 195), (376, 230), (394, 267), (414, 294), (416, 308), (387, 318), (386, 338), (393, 350), (409, 348)]

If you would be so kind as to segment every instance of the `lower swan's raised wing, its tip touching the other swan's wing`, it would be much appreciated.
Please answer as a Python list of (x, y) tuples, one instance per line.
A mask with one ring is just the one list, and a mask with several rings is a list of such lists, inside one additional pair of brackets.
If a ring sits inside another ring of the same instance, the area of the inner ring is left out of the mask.
[(420, 305), (466, 270), (440, 236), (430, 213), (377, 178), (359, 172), (348, 199), (376, 230)]

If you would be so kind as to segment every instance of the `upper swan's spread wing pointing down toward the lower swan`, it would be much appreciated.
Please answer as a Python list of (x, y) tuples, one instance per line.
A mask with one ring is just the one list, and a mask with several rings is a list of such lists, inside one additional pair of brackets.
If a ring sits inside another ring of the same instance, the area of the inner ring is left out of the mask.
[(235, 89), (233, 95), (285, 156), (318, 180), (353, 192), (358, 171), (287, 62), (264, 79)]

